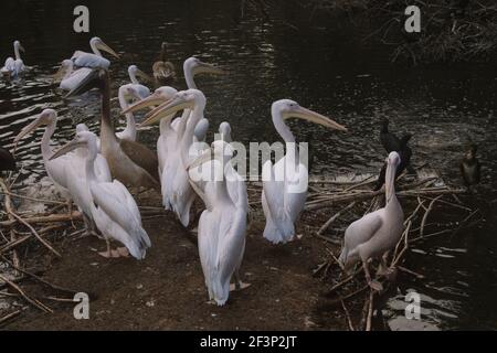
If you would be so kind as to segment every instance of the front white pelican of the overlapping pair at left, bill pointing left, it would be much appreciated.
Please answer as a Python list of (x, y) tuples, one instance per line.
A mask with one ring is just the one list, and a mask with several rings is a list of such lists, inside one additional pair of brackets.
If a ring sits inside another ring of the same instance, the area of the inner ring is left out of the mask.
[(51, 158), (56, 158), (78, 149), (86, 148), (86, 181), (93, 202), (89, 203), (93, 220), (102, 232), (107, 252), (99, 253), (105, 257), (118, 257), (120, 249), (110, 250), (110, 239), (124, 244), (129, 254), (137, 259), (145, 258), (146, 250), (151, 246), (150, 238), (141, 226), (141, 216), (138, 206), (129, 191), (119, 181), (101, 181), (95, 175), (95, 159), (97, 157), (96, 136), (89, 131), (76, 133), (73, 141), (62, 147)]

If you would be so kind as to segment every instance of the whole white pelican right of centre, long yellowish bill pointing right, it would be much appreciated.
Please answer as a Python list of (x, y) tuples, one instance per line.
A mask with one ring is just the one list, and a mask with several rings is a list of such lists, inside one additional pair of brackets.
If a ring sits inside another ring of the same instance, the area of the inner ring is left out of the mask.
[(300, 118), (325, 127), (346, 131), (334, 120), (300, 107), (296, 101), (281, 99), (271, 107), (273, 124), (285, 140), (287, 153), (274, 165), (271, 160), (263, 165), (262, 205), (266, 216), (264, 237), (269, 242), (286, 243), (295, 235), (297, 217), (304, 210), (307, 197), (308, 171), (299, 160), (295, 137), (285, 125), (288, 118)]

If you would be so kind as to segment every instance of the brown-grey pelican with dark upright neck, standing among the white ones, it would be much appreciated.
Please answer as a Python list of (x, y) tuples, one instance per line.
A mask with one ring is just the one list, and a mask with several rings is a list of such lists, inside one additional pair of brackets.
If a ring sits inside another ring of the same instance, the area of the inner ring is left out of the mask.
[(75, 96), (97, 87), (102, 94), (101, 145), (113, 178), (120, 182), (147, 189), (159, 189), (156, 154), (141, 143), (118, 139), (110, 116), (110, 86), (108, 72), (94, 68), (67, 96)]

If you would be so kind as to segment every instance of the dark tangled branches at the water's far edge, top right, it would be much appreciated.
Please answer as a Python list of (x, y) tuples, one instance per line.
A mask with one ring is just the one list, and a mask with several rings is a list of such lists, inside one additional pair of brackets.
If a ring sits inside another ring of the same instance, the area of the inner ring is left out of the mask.
[[(366, 13), (372, 28), (367, 39), (392, 46), (391, 60), (459, 62), (486, 60), (497, 46), (494, 0), (314, 0), (313, 12)], [(421, 33), (404, 30), (408, 6), (421, 10)]]

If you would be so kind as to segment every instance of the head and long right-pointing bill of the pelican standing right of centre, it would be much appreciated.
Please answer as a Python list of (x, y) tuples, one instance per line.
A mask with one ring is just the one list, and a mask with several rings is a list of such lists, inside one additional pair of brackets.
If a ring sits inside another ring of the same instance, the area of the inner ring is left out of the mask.
[(277, 113), (276, 115), (273, 116), (279, 115), (284, 120), (289, 118), (298, 118), (310, 122), (319, 124), (335, 130), (347, 131), (347, 129), (340, 124), (316, 111), (300, 107), (298, 103), (290, 99), (276, 100), (275, 103), (273, 103), (272, 110)]

